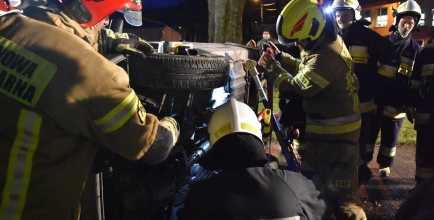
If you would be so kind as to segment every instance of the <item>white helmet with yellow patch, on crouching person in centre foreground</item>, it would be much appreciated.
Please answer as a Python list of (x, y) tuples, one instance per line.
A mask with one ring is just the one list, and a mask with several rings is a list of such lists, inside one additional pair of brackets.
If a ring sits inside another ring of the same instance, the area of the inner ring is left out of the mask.
[(230, 98), (219, 106), (208, 124), (211, 146), (220, 138), (233, 133), (250, 133), (262, 141), (261, 123), (255, 112), (246, 104)]

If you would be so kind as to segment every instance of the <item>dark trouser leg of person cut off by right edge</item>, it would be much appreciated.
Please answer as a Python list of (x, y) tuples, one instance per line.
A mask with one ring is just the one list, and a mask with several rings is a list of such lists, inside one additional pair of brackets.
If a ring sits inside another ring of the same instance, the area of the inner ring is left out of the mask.
[(434, 123), (419, 126), (416, 134), (416, 182), (434, 176)]

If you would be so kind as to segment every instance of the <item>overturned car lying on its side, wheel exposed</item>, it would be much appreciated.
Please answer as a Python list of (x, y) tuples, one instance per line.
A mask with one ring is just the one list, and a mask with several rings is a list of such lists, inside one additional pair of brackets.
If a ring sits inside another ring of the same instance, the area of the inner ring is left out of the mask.
[(83, 219), (174, 219), (188, 185), (217, 172), (197, 163), (210, 148), (207, 123), (215, 108), (233, 97), (257, 112), (257, 86), (243, 64), (258, 60), (258, 49), (233, 43), (150, 43), (155, 53), (146, 58), (106, 57), (127, 71), (147, 112), (179, 122), (179, 140), (155, 166), (101, 148), (82, 197)]

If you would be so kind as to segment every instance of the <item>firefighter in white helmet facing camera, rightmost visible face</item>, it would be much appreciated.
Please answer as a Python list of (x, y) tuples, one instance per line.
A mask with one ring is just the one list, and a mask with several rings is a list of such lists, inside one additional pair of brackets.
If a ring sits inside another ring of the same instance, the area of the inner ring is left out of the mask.
[(381, 130), (381, 142), (377, 155), (379, 176), (390, 175), (390, 167), (396, 153), (399, 131), (406, 116), (406, 100), (410, 86), (410, 77), (420, 45), (411, 38), (421, 16), (420, 6), (413, 0), (399, 5), (395, 14), (395, 24), (391, 26), (392, 34), (385, 36), (401, 56), (401, 64), (395, 74), (395, 82), (386, 89), (383, 97), (376, 97), (376, 112), (372, 117), (371, 127), (366, 142), (367, 161), (373, 159), (375, 141)]

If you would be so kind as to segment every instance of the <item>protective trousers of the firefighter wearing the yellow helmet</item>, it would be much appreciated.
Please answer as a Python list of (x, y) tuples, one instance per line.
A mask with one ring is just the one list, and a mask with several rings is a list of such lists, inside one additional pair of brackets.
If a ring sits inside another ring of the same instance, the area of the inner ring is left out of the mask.
[(301, 173), (333, 205), (339, 220), (366, 218), (357, 192), (358, 159), (356, 143), (306, 140)]

